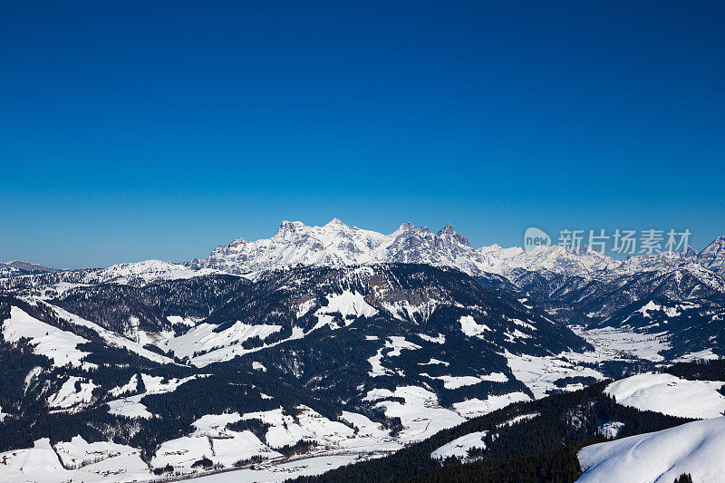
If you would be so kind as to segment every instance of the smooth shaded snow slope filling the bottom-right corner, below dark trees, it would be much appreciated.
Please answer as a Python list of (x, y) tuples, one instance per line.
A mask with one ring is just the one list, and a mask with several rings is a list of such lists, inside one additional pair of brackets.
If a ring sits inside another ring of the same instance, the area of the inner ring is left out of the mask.
[(693, 481), (725, 481), (725, 418), (700, 420), (668, 430), (587, 446), (579, 451), (579, 483), (672, 483), (683, 473)]

